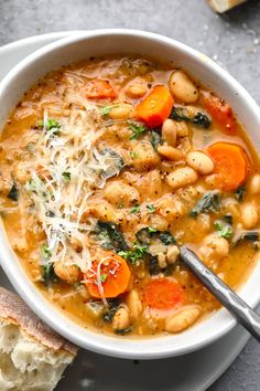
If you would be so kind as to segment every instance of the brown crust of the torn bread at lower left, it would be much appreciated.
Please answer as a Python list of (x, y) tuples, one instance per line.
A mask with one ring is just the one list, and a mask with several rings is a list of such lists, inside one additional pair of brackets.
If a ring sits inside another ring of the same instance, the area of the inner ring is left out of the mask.
[(44, 324), (18, 295), (2, 287), (0, 287), (0, 319), (18, 325), (28, 336), (55, 352), (62, 350), (75, 357), (78, 351), (75, 345)]

